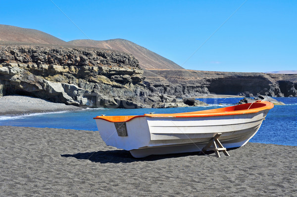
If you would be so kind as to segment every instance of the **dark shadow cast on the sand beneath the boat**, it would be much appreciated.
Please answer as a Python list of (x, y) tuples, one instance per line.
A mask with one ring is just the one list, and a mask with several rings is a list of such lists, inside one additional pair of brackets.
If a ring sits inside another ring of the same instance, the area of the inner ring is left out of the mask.
[[(232, 150), (232, 149), (237, 149), (237, 148), (228, 148), (227, 150)], [(175, 154), (149, 155), (144, 158), (134, 158), (127, 150), (106, 150), (106, 151), (97, 151), (97, 152), (79, 152), (76, 154), (61, 154), (62, 157), (74, 157), (76, 159), (86, 159), (92, 162), (99, 162), (99, 163), (131, 163), (135, 161), (155, 161), (160, 159), (191, 156), (191, 155), (216, 157), (214, 151), (206, 151), (205, 154), (201, 152), (187, 152), (187, 153), (175, 153)]]

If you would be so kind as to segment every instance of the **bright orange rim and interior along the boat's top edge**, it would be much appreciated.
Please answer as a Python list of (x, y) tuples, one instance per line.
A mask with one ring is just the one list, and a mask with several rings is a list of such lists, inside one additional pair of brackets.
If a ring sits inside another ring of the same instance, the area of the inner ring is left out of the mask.
[(97, 116), (94, 119), (103, 119), (109, 122), (128, 122), (137, 117), (207, 117), (207, 116), (226, 116), (238, 115), (247, 113), (257, 113), (259, 111), (273, 108), (273, 103), (268, 101), (253, 102), (247, 104), (234, 105), (230, 107), (223, 107), (218, 109), (208, 109), (202, 111), (184, 112), (184, 113), (159, 113), (159, 114), (144, 114), (144, 115), (130, 115), (130, 116)]

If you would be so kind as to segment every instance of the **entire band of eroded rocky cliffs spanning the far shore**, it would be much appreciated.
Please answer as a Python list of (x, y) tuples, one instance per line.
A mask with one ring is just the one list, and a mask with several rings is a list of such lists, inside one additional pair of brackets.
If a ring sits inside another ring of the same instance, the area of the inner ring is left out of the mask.
[(133, 55), (118, 51), (0, 46), (0, 96), (139, 108), (203, 105), (187, 98), (209, 93), (297, 97), (297, 75), (143, 70)]

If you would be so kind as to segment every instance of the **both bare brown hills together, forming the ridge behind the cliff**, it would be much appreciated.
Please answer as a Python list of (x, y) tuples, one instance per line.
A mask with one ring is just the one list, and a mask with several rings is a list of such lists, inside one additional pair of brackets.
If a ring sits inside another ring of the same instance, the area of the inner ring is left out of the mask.
[(184, 69), (173, 61), (131, 41), (124, 39), (111, 39), (106, 41), (95, 40), (73, 40), (65, 42), (45, 32), (0, 25), (0, 44), (45, 44), (60, 45), (67, 47), (91, 47), (100, 49), (111, 49), (133, 54), (144, 69)]

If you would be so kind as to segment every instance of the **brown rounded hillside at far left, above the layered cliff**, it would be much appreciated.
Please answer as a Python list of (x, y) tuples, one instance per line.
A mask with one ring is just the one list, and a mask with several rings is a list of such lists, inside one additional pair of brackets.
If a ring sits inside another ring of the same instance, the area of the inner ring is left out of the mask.
[(0, 25), (0, 43), (67, 44), (67, 42), (39, 30), (10, 25)]

